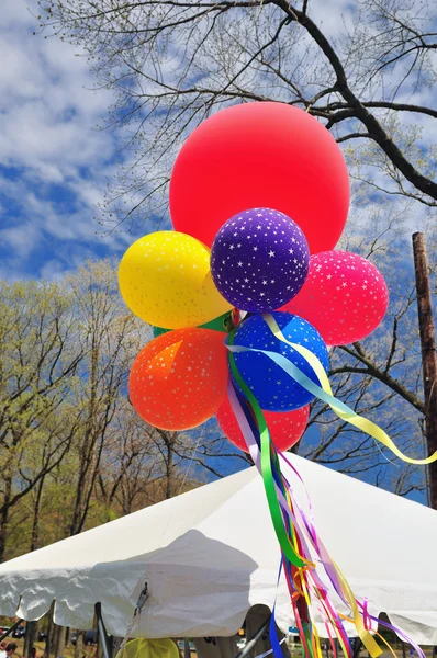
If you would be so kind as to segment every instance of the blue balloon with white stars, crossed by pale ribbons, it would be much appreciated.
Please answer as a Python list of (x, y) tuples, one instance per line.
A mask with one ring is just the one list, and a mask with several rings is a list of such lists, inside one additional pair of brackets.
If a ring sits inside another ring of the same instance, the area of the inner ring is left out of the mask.
[[(329, 358), (325, 341), (310, 322), (291, 313), (271, 314), (290, 342), (307, 348), (327, 371)], [(311, 365), (293, 348), (278, 340), (262, 316), (254, 315), (235, 330), (234, 345), (282, 354), (315, 384), (320, 384)], [(314, 396), (261, 352), (235, 352), (235, 363), (244, 382), (266, 411), (292, 411), (304, 407)], [(238, 387), (234, 379), (234, 384)]]

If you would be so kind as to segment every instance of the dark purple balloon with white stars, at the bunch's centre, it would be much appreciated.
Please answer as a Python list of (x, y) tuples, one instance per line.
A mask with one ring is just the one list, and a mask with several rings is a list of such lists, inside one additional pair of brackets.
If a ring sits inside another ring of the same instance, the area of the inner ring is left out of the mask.
[(310, 250), (283, 213), (253, 208), (222, 226), (211, 248), (211, 272), (233, 306), (250, 313), (280, 308), (303, 286)]

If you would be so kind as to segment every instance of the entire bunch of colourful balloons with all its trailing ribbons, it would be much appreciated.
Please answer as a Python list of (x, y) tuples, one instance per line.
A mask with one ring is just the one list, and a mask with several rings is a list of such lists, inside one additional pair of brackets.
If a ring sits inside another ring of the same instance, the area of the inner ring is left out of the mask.
[[(132, 366), (132, 404), (165, 430), (216, 415), (228, 439), (250, 452), (307, 657), (321, 655), (314, 608), (345, 656), (352, 655), (345, 620), (372, 657), (381, 653), (362, 604), (281, 472), (309, 404), (320, 398), (410, 463), (437, 457), (402, 455), (381, 428), (333, 396), (327, 345), (371, 333), (389, 302), (374, 265), (333, 250), (348, 205), (347, 168), (323, 125), (282, 103), (237, 105), (202, 123), (176, 160), (176, 230), (137, 240), (120, 265), (127, 306), (155, 327)], [(334, 605), (333, 588), (348, 615)]]

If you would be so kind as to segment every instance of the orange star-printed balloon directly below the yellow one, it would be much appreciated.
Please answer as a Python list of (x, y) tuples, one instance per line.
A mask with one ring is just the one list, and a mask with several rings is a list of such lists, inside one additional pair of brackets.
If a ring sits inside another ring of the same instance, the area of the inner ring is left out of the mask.
[(224, 334), (212, 329), (176, 329), (150, 341), (134, 361), (128, 379), (137, 413), (161, 430), (189, 430), (211, 418), (227, 385)]

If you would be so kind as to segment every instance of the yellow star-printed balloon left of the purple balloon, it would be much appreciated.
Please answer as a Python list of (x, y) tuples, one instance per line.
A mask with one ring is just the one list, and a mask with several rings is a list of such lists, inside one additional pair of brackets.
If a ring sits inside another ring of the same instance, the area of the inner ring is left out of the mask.
[(198, 327), (232, 308), (214, 285), (208, 247), (173, 230), (134, 242), (120, 263), (119, 284), (136, 316), (166, 329)]

